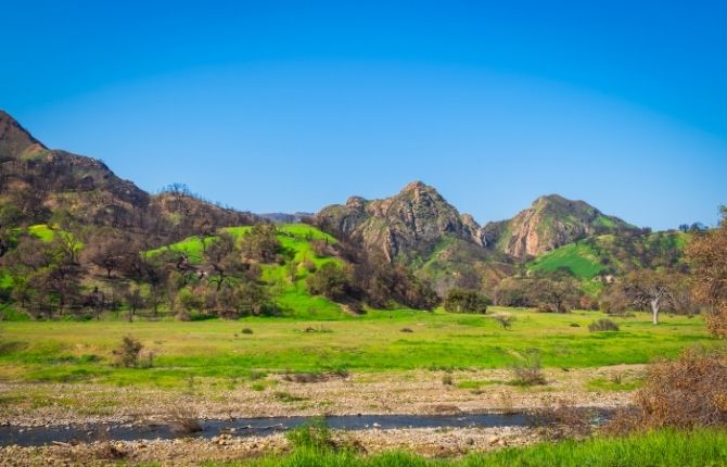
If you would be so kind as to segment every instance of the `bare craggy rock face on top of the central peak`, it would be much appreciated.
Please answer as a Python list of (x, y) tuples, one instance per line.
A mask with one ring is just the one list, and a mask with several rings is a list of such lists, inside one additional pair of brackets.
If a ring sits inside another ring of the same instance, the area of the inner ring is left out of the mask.
[(480, 244), (480, 226), (462, 216), (432, 187), (414, 181), (383, 200), (352, 197), (345, 205), (324, 207), (317, 225), (355, 239), (390, 261), (428, 256), (445, 237)]

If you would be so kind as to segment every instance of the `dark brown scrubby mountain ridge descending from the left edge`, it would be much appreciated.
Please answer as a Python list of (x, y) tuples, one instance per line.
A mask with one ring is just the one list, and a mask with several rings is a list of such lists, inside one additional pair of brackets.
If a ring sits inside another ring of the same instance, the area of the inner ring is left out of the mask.
[(125, 229), (152, 242), (257, 219), (195, 198), (186, 189), (150, 194), (97, 159), (48, 149), (3, 111), (0, 210), (0, 227), (64, 218)]

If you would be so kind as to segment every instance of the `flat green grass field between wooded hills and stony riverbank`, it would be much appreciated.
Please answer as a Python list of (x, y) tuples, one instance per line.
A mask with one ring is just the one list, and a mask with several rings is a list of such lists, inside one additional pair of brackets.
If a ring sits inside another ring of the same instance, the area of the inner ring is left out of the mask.
[[(2, 323), (0, 379), (174, 387), (192, 376), (244, 378), (254, 371), (503, 368), (533, 349), (546, 367), (583, 368), (648, 363), (715, 342), (700, 317), (664, 316), (654, 327), (649, 316), (637, 314), (615, 319), (621, 331), (589, 332), (588, 324), (602, 314), (490, 312), (513, 314), (512, 329), (502, 330), (487, 315), (411, 311), (329, 320)], [(126, 335), (154, 352), (153, 368), (112, 366), (112, 352)]]

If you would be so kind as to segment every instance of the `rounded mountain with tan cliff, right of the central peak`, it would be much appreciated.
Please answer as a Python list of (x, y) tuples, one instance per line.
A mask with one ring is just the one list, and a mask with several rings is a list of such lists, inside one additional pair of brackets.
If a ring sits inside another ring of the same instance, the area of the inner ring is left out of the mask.
[(481, 241), (488, 249), (526, 258), (594, 235), (633, 230), (636, 227), (584, 201), (549, 194), (538, 198), (511, 219), (485, 225)]

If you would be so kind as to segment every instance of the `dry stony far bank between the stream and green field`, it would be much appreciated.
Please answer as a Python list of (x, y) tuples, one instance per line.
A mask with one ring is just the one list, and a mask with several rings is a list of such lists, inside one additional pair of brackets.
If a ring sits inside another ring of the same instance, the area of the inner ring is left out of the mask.
[(512, 383), (509, 370), (397, 371), (330, 375), (271, 374), (235, 384), (207, 378), (187, 388), (98, 383), (0, 383), (0, 424), (165, 422), (189, 417), (251, 417), (511, 413), (567, 404), (616, 408), (628, 404), (643, 365), (546, 369), (546, 384)]

